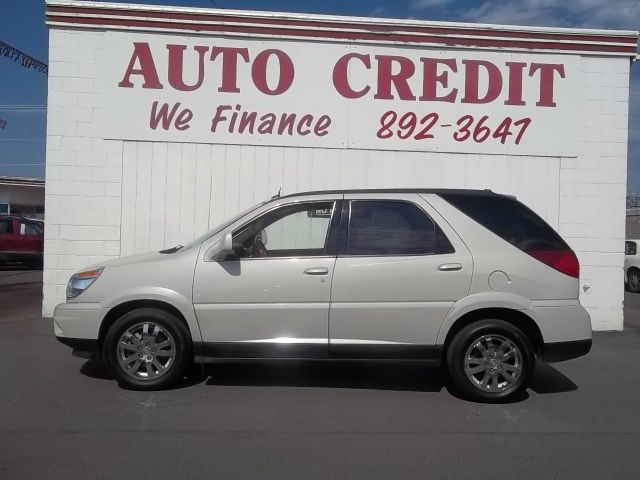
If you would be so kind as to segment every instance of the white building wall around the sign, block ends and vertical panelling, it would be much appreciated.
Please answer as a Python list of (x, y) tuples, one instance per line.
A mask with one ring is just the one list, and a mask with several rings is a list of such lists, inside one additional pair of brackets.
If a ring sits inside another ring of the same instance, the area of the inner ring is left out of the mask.
[(78, 269), (187, 242), (280, 187), (429, 185), (517, 195), (576, 250), (593, 327), (622, 328), (628, 60), (582, 58), (577, 158), (121, 142), (101, 137), (103, 38), (50, 30), (43, 315)]

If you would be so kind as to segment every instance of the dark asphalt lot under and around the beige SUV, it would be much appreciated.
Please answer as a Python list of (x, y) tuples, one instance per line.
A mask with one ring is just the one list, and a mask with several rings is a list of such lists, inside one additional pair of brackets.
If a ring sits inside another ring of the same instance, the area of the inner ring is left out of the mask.
[(482, 405), (394, 364), (230, 363), (122, 390), (54, 340), (40, 276), (0, 272), (2, 479), (640, 478), (640, 295), (624, 334)]

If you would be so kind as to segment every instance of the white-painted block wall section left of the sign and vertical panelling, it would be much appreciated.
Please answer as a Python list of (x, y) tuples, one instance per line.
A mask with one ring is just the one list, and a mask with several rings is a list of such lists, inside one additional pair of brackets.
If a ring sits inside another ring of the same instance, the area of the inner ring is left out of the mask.
[(51, 316), (78, 269), (120, 256), (122, 142), (102, 138), (102, 34), (52, 28), (44, 299)]

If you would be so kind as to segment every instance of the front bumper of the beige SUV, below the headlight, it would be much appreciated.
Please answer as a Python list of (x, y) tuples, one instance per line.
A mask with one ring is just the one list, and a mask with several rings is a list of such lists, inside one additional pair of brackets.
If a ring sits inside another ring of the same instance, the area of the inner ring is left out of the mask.
[(87, 358), (98, 351), (104, 311), (98, 303), (61, 303), (53, 313), (56, 339), (71, 347), (74, 355)]

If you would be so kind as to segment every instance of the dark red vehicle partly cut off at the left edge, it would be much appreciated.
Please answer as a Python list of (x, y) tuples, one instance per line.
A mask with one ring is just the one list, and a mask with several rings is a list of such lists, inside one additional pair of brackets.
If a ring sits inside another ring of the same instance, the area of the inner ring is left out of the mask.
[(44, 223), (15, 215), (0, 216), (0, 265), (42, 266)]

